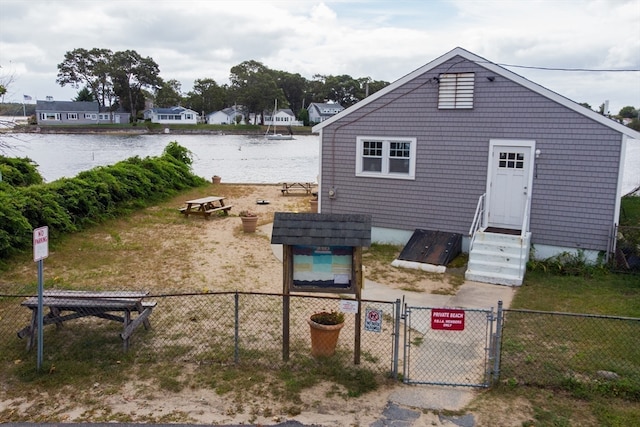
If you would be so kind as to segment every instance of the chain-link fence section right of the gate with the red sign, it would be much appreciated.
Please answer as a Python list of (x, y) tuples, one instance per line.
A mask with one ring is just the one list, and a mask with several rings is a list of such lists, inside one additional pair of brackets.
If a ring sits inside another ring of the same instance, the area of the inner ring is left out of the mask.
[(640, 319), (505, 310), (500, 379), (640, 400)]

